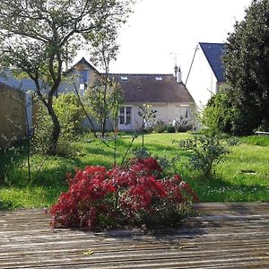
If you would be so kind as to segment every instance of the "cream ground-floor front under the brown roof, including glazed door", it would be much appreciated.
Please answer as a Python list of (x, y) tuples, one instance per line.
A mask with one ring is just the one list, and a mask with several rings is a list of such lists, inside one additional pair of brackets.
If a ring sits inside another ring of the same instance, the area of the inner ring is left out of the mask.
[[(120, 124), (120, 130), (141, 130), (143, 125), (143, 119), (138, 115), (139, 107), (143, 104), (125, 104), (126, 108), (131, 108), (130, 118), (128, 114), (119, 115), (119, 117), (125, 117), (127, 124)], [(189, 122), (194, 120), (193, 111), (194, 104), (189, 103), (152, 103), (152, 109), (157, 110), (156, 118), (164, 121), (166, 125), (171, 124), (173, 120), (179, 117), (187, 117)], [(128, 111), (125, 110), (125, 113)], [(129, 124), (130, 119), (130, 124)], [(119, 119), (120, 121), (121, 119)]]

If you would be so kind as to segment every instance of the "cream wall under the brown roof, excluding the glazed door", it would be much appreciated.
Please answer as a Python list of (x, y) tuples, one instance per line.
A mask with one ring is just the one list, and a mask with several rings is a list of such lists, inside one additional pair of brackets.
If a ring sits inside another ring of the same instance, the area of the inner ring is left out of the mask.
[[(126, 104), (126, 106), (133, 107), (133, 129), (134, 130), (141, 130), (143, 125), (142, 117), (138, 115), (139, 107), (143, 104)], [(188, 120), (194, 120), (194, 109), (195, 104), (190, 103), (157, 103), (152, 104), (152, 109), (157, 110), (156, 118), (161, 119), (165, 122), (166, 125), (173, 122), (174, 119), (182, 116), (186, 116), (186, 108), (189, 107), (190, 113), (188, 114)], [(180, 114), (180, 111), (183, 115)]]

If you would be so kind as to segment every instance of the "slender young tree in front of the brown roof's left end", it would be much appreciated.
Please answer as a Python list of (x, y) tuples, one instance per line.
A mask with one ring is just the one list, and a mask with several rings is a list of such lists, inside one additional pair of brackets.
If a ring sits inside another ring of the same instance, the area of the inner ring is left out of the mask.
[(116, 29), (113, 25), (108, 27), (109, 30), (92, 31), (87, 36), (88, 39), (94, 37), (94, 42), (91, 42), (91, 62), (104, 70), (104, 74), (100, 74), (87, 91), (87, 103), (91, 114), (97, 118), (102, 137), (108, 121), (112, 120), (114, 130), (117, 128), (118, 110), (123, 104), (120, 85), (109, 77), (109, 65), (116, 60), (118, 45)]

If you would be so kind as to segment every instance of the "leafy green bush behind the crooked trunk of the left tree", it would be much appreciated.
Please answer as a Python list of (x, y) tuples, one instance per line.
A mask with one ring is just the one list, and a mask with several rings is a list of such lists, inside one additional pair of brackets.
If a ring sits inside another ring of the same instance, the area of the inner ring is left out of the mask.
[[(73, 92), (61, 94), (54, 100), (54, 109), (61, 126), (58, 140), (57, 154), (69, 155), (74, 153), (71, 142), (80, 132), (80, 124), (84, 117), (79, 100)], [(36, 152), (46, 153), (51, 144), (53, 124), (48, 116), (47, 109), (39, 103), (36, 115), (36, 126), (33, 136), (33, 148)]]

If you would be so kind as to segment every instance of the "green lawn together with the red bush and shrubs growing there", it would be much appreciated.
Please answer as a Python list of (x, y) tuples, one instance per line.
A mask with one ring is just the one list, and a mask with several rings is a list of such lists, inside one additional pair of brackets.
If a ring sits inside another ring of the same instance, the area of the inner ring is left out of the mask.
[(178, 225), (196, 201), (268, 202), (269, 137), (206, 137), (86, 133), (70, 156), (30, 158), (27, 143), (13, 146), (0, 155), (1, 209), (52, 206), (53, 226), (91, 230)]

